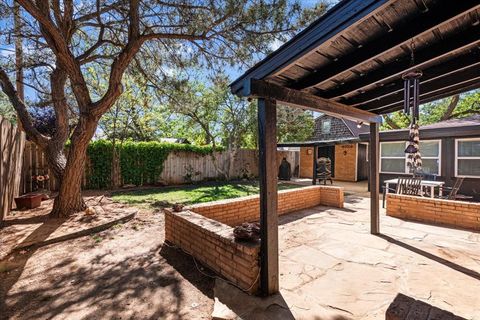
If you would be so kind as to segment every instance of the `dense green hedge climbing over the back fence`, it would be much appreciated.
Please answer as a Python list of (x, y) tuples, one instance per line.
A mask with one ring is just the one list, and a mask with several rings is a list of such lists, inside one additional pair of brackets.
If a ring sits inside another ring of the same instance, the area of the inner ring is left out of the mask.
[[(188, 151), (201, 155), (212, 152), (211, 146), (127, 141), (116, 144), (120, 157), (120, 172), (124, 184), (148, 185), (157, 182), (163, 163), (172, 151)], [(90, 159), (87, 188), (111, 187), (113, 144), (107, 140), (92, 141), (87, 150)]]

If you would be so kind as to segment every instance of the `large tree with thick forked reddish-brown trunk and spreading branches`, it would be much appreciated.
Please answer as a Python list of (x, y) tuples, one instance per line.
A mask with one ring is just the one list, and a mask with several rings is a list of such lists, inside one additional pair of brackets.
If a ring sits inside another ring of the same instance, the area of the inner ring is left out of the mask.
[[(287, 0), (16, 1), (23, 11), (21, 30), (1, 31), (0, 36), (5, 42), (22, 37), (24, 84), (39, 92), (41, 104), (53, 107), (55, 134), (35, 128), (9, 77), (15, 70), (1, 63), (0, 84), (60, 181), (51, 213), (57, 217), (85, 209), (81, 181), (88, 143), (102, 115), (122, 94), (122, 77), (139, 53), (139, 65), (149, 59), (173, 68), (186, 63), (250, 63), (258, 53), (269, 51), (275, 39), (284, 41), (315, 16), (315, 10), (304, 14), (298, 3)], [(0, 7), (11, 10), (13, 4)], [(12, 25), (9, 21), (0, 24)], [(86, 75), (98, 66), (106, 66), (108, 83), (103, 92), (93, 93)]]

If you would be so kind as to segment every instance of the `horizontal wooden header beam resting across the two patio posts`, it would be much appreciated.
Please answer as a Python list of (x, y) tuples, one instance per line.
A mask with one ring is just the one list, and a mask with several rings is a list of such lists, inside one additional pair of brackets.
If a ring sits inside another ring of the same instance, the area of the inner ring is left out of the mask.
[(323, 112), (352, 121), (365, 123), (382, 121), (382, 117), (377, 114), (263, 80), (252, 79), (248, 81), (243, 88), (244, 91), (242, 95), (246, 97), (269, 98), (284, 105)]

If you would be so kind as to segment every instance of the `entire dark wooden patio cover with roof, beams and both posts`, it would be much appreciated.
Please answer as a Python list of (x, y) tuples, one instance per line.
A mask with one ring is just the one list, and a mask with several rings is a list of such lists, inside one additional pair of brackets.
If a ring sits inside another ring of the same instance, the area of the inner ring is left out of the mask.
[(414, 69), (423, 71), (420, 103), (480, 87), (479, 0), (343, 0), (231, 84), (258, 100), (264, 295), (279, 290), (276, 104), (370, 124), (378, 234), (381, 114), (402, 109), (401, 76)]

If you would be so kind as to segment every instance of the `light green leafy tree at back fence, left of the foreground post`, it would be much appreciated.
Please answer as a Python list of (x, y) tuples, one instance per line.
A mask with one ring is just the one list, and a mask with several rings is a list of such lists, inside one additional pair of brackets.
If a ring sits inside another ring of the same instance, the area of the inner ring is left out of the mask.
[(224, 147), (225, 161), (219, 163), (214, 152), (213, 165), (225, 179), (232, 178), (238, 151), (254, 128), (254, 104), (232, 95), (224, 76), (217, 76), (210, 86), (181, 82), (171, 90), (167, 103), (172, 112), (185, 117), (184, 126), (197, 130), (200, 140), (194, 142), (211, 144), (214, 150)]

